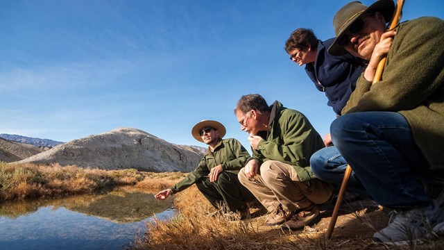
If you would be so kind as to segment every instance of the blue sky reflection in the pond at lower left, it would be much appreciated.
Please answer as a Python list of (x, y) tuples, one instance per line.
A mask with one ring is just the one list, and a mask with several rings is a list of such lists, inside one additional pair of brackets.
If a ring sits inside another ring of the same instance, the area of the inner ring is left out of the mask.
[[(15, 219), (0, 217), (0, 249), (124, 249), (134, 242), (138, 232), (145, 231), (151, 215), (123, 224), (62, 206), (42, 206), (35, 213)], [(167, 219), (172, 215), (173, 210), (166, 210), (156, 217)]]

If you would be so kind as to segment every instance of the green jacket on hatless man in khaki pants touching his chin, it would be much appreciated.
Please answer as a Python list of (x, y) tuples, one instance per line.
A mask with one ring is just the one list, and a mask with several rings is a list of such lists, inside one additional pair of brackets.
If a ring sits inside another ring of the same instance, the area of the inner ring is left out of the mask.
[(315, 178), (310, 169), (310, 157), (325, 146), (321, 135), (305, 115), (275, 101), (271, 105), (268, 131), (261, 136), (264, 140), (259, 142), (253, 157), (248, 160), (257, 160), (259, 166), (266, 160), (278, 160), (292, 165), (300, 181)]

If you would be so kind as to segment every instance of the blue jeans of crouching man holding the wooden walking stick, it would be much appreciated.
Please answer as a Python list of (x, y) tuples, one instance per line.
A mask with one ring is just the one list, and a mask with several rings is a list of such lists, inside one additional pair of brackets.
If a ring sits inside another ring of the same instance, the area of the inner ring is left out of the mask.
[(392, 112), (343, 115), (334, 120), (330, 132), (337, 148), (332, 148), (330, 155), (339, 151), (341, 156), (335, 158), (339, 159), (336, 163), (327, 160), (325, 164), (324, 159), (321, 165), (318, 154), (322, 151), (317, 152), (310, 161), (316, 176), (339, 183), (342, 181), (339, 173), (343, 176), (345, 163), (349, 163), (353, 169), (350, 190), (361, 194), (360, 183), (382, 206), (412, 209), (432, 203), (420, 179), (432, 178), (434, 173), (429, 170), (402, 115)]

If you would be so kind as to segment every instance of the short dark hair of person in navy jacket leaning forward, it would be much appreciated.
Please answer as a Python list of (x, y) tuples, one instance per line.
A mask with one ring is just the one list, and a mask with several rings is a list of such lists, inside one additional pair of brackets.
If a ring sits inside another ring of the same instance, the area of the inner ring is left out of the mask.
[(311, 28), (297, 28), (285, 42), (284, 49), (287, 53), (291, 53), (295, 49), (307, 50), (308, 47), (318, 49), (318, 38), (316, 38)]

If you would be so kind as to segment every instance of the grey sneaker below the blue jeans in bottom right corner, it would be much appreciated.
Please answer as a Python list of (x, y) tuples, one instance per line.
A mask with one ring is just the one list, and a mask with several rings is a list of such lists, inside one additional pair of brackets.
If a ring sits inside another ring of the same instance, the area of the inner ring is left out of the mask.
[(373, 240), (385, 244), (409, 244), (429, 235), (435, 228), (439, 233), (443, 227), (444, 213), (435, 200), (432, 206), (433, 208), (415, 208), (408, 211), (393, 210), (395, 218), (386, 228), (376, 232)]

